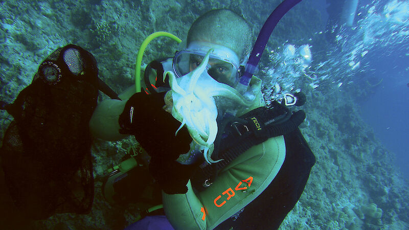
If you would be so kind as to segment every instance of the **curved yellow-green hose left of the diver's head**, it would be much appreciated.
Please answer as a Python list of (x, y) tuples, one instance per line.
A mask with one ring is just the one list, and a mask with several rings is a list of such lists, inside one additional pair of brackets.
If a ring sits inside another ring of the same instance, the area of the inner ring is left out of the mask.
[(139, 93), (141, 91), (141, 64), (142, 64), (142, 57), (144, 56), (145, 49), (148, 46), (149, 42), (152, 41), (154, 38), (157, 37), (169, 37), (175, 40), (177, 43), (180, 43), (182, 40), (176, 37), (175, 35), (159, 31), (149, 35), (144, 42), (142, 42), (141, 48), (138, 51), (137, 62), (135, 63), (135, 89), (136, 92)]

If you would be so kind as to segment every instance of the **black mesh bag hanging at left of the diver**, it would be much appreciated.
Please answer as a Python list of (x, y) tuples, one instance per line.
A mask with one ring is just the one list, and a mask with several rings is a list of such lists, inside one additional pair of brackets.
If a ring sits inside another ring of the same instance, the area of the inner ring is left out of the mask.
[(14, 203), (29, 217), (90, 210), (94, 181), (88, 122), (97, 97), (94, 57), (67, 45), (40, 65), (8, 110), (14, 121), (0, 149), (2, 166)]

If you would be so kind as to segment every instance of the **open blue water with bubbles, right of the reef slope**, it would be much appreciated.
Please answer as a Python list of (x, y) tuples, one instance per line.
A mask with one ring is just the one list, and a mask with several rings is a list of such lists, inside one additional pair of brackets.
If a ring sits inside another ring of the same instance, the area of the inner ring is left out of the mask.
[[(354, 25), (344, 25), (336, 31), (337, 41), (328, 52), (332, 68), (315, 72), (318, 77), (328, 74), (331, 82), (314, 79), (316, 85), (325, 83), (326, 87), (338, 88), (355, 98), (362, 119), (390, 150), (385, 154), (395, 156), (395, 167), (406, 178), (409, 178), (408, 28), (407, 1), (359, 1)], [(339, 68), (334, 71), (334, 66)]]

